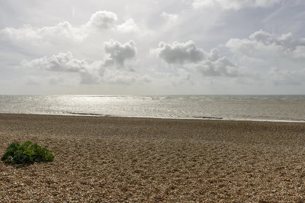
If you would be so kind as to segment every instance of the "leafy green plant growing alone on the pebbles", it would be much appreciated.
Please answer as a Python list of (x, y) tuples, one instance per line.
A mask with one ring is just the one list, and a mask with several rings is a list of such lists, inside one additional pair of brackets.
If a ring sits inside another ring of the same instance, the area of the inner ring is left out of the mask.
[(36, 143), (32, 145), (31, 141), (27, 141), (22, 145), (12, 143), (1, 159), (7, 163), (21, 166), (26, 163), (53, 161), (54, 158), (54, 155), (47, 148)]

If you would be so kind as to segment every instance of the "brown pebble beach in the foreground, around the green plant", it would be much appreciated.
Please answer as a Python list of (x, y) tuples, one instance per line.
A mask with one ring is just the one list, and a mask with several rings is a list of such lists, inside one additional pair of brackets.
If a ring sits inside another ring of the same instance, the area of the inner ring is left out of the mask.
[(0, 162), (0, 202), (305, 202), (305, 123), (0, 114), (53, 162)]

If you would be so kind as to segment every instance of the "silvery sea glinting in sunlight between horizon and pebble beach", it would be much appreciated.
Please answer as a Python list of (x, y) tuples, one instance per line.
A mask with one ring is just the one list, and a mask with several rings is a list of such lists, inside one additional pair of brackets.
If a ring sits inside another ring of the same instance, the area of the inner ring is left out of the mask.
[(305, 122), (305, 95), (0, 95), (0, 113)]

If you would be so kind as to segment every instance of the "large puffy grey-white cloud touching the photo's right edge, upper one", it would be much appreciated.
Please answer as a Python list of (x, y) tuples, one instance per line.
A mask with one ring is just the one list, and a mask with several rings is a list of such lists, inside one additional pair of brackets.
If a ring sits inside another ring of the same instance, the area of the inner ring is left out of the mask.
[(249, 39), (230, 39), (226, 47), (234, 54), (248, 55), (257, 58), (285, 57), (291, 60), (305, 59), (305, 40), (293, 38), (292, 33), (276, 36), (259, 30)]

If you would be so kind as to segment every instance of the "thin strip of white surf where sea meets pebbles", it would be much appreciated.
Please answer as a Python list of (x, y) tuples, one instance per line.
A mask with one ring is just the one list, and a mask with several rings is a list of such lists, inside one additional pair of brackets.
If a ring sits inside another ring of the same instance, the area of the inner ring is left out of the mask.
[(180, 117), (180, 118), (175, 118), (175, 117), (115, 116), (115, 115), (102, 115), (102, 114), (94, 114), (94, 113), (70, 113), (70, 114), (65, 114), (65, 113), (64, 114), (0, 113), (0, 114), (305, 123), (305, 120), (267, 120), (267, 119), (246, 119), (246, 118), (239, 118), (239, 119), (236, 118), (235, 119), (235, 118), (216, 118), (216, 117), (192, 117), (192, 118)]

